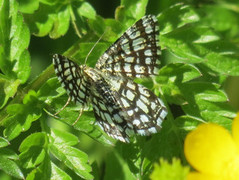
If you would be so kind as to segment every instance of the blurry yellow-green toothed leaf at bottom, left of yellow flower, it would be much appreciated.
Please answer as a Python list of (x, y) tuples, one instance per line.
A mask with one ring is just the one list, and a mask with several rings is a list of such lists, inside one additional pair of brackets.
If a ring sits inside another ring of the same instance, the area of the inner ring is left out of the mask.
[(160, 159), (160, 164), (154, 165), (154, 171), (150, 175), (152, 180), (186, 180), (190, 168), (184, 167), (179, 159), (173, 158), (169, 164), (166, 160)]

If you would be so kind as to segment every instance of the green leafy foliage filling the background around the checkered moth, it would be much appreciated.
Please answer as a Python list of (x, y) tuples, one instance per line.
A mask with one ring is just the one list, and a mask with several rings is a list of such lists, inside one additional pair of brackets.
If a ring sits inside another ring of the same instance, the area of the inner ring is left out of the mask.
[[(159, 20), (162, 68), (137, 81), (168, 106), (160, 133), (116, 142), (91, 109), (72, 127), (73, 103), (60, 119), (49, 116), (67, 100), (52, 54), (82, 64), (106, 32), (87, 61), (93, 66), (144, 14)], [(230, 130), (238, 110), (238, 15), (237, 0), (0, 0), (0, 179), (149, 179), (159, 158), (186, 166), (185, 135), (204, 122)], [(185, 172), (160, 162), (161, 179)]]

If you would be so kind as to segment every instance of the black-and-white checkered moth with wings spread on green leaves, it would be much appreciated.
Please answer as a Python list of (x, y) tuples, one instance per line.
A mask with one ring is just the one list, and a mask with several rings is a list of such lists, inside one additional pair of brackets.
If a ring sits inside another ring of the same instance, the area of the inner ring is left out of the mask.
[(70, 98), (83, 105), (91, 102), (99, 126), (122, 142), (129, 142), (132, 134), (158, 132), (167, 115), (163, 102), (132, 80), (157, 74), (158, 35), (156, 17), (147, 15), (100, 57), (95, 68), (53, 57), (56, 75)]

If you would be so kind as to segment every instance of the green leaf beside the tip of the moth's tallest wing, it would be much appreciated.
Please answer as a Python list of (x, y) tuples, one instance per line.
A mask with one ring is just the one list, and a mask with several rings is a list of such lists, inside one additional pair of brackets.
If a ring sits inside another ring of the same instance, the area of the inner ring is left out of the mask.
[(200, 20), (196, 10), (189, 5), (182, 3), (175, 4), (169, 9), (164, 10), (159, 16), (160, 34), (166, 34), (175, 28)]

